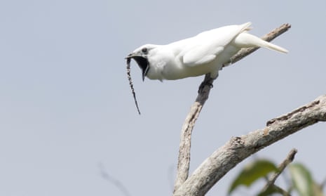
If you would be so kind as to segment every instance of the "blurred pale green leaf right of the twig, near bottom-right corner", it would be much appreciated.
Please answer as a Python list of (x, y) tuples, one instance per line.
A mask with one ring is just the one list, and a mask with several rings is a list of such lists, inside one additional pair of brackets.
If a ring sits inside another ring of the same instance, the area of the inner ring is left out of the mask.
[(294, 189), (299, 195), (313, 196), (314, 183), (310, 171), (303, 164), (298, 163), (290, 164), (289, 170)]

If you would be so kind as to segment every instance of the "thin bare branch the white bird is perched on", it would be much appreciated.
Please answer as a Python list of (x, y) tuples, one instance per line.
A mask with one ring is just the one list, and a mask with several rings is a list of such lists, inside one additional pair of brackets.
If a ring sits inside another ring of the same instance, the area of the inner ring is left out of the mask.
[[(266, 34), (262, 39), (266, 41), (271, 41), (278, 37), (283, 32), (286, 32), (290, 29), (289, 24), (281, 25), (280, 27), (276, 28), (275, 30)], [(258, 48), (246, 48), (240, 50), (236, 55), (234, 55), (229, 63), (236, 63), (238, 60), (244, 58), (246, 55), (256, 51)], [(180, 137), (180, 144), (179, 144), (179, 157), (178, 157), (178, 164), (177, 164), (177, 177), (175, 179), (175, 190), (174, 192), (186, 181), (189, 175), (189, 165), (190, 165), (190, 148), (191, 148), (191, 132), (193, 130), (193, 126), (198, 119), (198, 116), (201, 112), (205, 101), (208, 100), (208, 96), (210, 94), (210, 88), (212, 86), (213, 80), (210, 79), (209, 74), (205, 75), (205, 79), (201, 86), (200, 90), (198, 91), (198, 96), (196, 98), (195, 103), (191, 106), (189, 114), (186, 116), (184, 124), (182, 126), (181, 137)]]

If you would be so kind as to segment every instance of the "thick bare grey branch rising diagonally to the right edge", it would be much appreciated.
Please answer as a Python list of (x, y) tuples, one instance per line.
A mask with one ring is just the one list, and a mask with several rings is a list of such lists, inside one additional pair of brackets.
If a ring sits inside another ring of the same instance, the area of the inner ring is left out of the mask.
[(233, 137), (205, 159), (174, 195), (205, 195), (224, 174), (246, 157), (306, 126), (325, 121), (326, 95), (286, 115), (271, 119), (264, 129)]

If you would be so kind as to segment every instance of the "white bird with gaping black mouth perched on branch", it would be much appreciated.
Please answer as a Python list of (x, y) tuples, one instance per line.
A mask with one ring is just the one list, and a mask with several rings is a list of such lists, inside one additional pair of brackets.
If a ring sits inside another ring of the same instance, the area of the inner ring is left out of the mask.
[(249, 34), (250, 25), (251, 22), (247, 22), (219, 27), (166, 45), (145, 44), (126, 58), (137, 62), (143, 80), (148, 77), (162, 81), (208, 73), (216, 79), (223, 65), (241, 48), (263, 47), (287, 53), (285, 48)]

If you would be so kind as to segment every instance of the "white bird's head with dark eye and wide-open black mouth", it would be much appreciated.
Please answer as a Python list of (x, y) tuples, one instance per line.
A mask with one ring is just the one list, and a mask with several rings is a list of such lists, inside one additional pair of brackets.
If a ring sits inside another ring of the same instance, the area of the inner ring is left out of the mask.
[(139, 48), (135, 49), (133, 53), (130, 53), (125, 59), (127, 61), (130, 61), (130, 59), (133, 58), (133, 60), (136, 61), (137, 65), (142, 69), (142, 80), (144, 81), (147, 72), (149, 71), (149, 56), (151, 55), (152, 49), (154, 49), (156, 46), (153, 44), (145, 44), (143, 46), (140, 46)]

